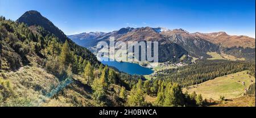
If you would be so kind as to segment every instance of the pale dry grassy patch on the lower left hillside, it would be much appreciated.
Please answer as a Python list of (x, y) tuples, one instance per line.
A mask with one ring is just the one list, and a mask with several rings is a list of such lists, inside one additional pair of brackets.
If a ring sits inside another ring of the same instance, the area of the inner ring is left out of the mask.
[(16, 97), (30, 99), (29, 106), (40, 106), (48, 99), (44, 94), (59, 84), (59, 80), (54, 75), (37, 66), (24, 66), (15, 72), (1, 73), (0, 78), (10, 82)]

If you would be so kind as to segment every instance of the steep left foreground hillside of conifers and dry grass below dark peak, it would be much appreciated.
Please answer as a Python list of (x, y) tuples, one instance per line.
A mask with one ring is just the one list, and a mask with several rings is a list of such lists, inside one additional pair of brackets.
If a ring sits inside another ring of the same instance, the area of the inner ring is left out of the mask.
[[(1, 16), (0, 31), (0, 106), (152, 106), (144, 100), (157, 92), (151, 82), (100, 64), (87, 49), (43, 26)], [(185, 105), (181, 88), (168, 87), (166, 97), (179, 98), (165, 106)]]

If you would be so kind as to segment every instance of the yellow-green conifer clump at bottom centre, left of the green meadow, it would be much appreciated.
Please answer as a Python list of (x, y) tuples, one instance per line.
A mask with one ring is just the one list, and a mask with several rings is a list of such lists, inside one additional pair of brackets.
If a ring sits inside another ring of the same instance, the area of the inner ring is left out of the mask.
[[(147, 102), (145, 98), (154, 99), (154, 102)], [(152, 97), (156, 96), (156, 98)], [(171, 83), (161, 80), (155, 81), (141, 81), (139, 80), (133, 86), (127, 97), (127, 92), (121, 90), (119, 97), (127, 99), (125, 106), (157, 106), (157, 107), (188, 107), (188, 106), (207, 106), (207, 100), (203, 99), (200, 94), (195, 92), (183, 94), (181, 86), (177, 83)]]

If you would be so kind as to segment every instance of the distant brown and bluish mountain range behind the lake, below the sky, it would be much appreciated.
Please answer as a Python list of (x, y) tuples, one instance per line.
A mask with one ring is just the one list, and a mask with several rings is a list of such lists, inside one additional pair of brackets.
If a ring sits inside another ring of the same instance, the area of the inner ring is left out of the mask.
[[(247, 36), (230, 36), (226, 32), (189, 33), (184, 29), (167, 28), (121, 28), (109, 33), (90, 32), (68, 36), (77, 44), (95, 49), (99, 41), (159, 41), (159, 61), (180, 61), (180, 57), (209, 58), (207, 52), (228, 53), (247, 60), (255, 60), (255, 39)], [(253, 51), (254, 50), (254, 51)], [(92, 50), (95, 51), (95, 50)], [(253, 54), (252, 54), (253, 53)]]

